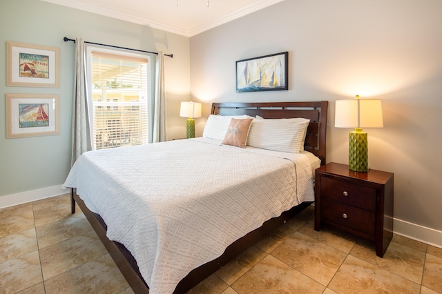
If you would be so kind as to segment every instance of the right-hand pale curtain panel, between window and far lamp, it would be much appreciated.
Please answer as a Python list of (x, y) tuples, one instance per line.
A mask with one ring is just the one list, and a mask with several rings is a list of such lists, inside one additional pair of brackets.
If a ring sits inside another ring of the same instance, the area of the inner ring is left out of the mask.
[(166, 141), (166, 92), (164, 90), (164, 55), (158, 52), (155, 59), (155, 98), (153, 106), (152, 142)]

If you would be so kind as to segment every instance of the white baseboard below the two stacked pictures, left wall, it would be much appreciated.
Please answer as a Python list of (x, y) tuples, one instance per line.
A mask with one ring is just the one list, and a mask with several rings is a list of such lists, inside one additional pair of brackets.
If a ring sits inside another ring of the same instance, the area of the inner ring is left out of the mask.
[(66, 193), (70, 193), (70, 189), (62, 189), (61, 184), (59, 184), (57, 186), (0, 196), (0, 208), (15, 206), (18, 204), (63, 195)]

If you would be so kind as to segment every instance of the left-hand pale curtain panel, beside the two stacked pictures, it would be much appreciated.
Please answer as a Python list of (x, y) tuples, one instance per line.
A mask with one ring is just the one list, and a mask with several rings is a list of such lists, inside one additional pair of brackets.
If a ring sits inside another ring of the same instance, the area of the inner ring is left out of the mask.
[(82, 153), (92, 150), (84, 39), (75, 39), (75, 45), (71, 166), (74, 165), (75, 161)]

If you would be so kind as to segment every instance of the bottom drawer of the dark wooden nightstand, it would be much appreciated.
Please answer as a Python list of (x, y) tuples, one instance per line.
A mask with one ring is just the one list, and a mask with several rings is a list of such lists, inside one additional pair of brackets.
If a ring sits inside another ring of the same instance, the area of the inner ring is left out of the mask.
[(320, 215), (323, 219), (374, 236), (374, 213), (325, 198), (322, 202)]

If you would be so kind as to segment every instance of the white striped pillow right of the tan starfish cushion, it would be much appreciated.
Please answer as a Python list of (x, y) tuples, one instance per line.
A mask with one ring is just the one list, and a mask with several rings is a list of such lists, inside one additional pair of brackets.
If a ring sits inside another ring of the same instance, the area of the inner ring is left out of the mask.
[(285, 153), (300, 153), (309, 119), (253, 119), (247, 146)]

